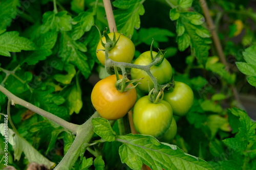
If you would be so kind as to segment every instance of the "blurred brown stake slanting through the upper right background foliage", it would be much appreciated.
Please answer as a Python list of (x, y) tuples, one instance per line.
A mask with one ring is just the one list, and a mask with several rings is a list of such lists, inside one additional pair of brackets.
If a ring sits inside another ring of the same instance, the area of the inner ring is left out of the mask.
[[(222, 46), (221, 46), (220, 38), (219, 38), (219, 36), (218, 36), (218, 34), (216, 32), (214, 21), (212, 21), (212, 18), (210, 16), (210, 12), (209, 12), (207, 3), (205, 2), (205, 0), (200, 0), (200, 5), (202, 7), (202, 10), (203, 10), (203, 13), (204, 13), (207, 25), (208, 25), (208, 29), (209, 29), (209, 31), (210, 31), (210, 33), (212, 35), (212, 40), (214, 41), (214, 44), (216, 46), (216, 50), (217, 50), (217, 53), (218, 53), (218, 55), (220, 57), (220, 60), (226, 66), (226, 69), (229, 72), (229, 66), (228, 66), (225, 54), (223, 52)], [(232, 90), (232, 93), (234, 95), (234, 98), (240, 104), (241, 101), (240, 101), (240, 98), (239, 98), (239, 94), (238, 94), (237, 88), (234, 87), (233, 85), (231, 85), (231, 90)]]

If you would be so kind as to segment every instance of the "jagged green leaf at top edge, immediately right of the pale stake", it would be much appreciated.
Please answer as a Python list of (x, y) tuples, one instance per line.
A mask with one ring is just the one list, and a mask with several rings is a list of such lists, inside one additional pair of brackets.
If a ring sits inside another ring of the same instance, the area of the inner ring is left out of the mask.
[(145, 12), (142, 2), (142, 0), (113, 2), (114, 7), (118, 8), (114, 10), (117, 30), (126, 37), (132, 37), (134, 28), (140, 28), (140, 15)]

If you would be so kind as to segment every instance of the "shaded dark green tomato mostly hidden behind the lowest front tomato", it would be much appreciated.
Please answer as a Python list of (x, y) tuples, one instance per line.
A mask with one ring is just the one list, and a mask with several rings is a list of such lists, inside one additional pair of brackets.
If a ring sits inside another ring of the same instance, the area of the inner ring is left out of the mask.
[(162, 136), (159, 136), (158, 139), (162, 142), (169, 143), (174, 139), (176, 133), (177, 133), (177, 124), (176, 124), (175, 118), (173, 118), (169, 129)]

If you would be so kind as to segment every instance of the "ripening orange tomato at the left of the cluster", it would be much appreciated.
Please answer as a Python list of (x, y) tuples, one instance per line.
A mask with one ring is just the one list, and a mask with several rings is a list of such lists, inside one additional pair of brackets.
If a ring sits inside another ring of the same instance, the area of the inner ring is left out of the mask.
[[(122, 78), (121, 75), (119, 77)], [(91, 94), (94, 108), (103, 118), (108, 120), (123, 117), (134, 106), (137, 98), (135, 88), (121, 93), (116, 89), (115, 83), (115, 75), (106, 77), (96, 83)], [(127, 87), (132, 86), (130, 84)]]

